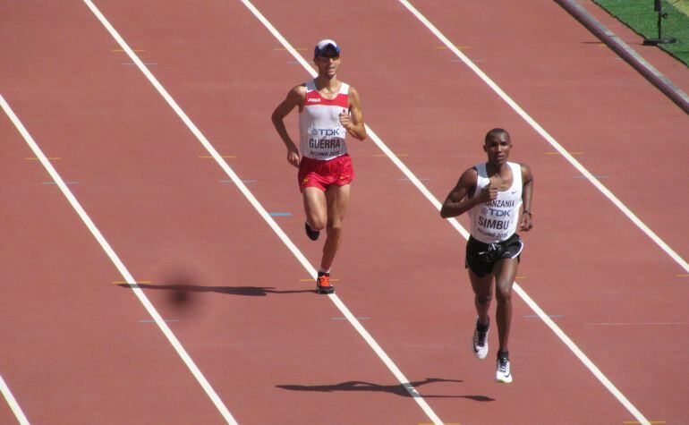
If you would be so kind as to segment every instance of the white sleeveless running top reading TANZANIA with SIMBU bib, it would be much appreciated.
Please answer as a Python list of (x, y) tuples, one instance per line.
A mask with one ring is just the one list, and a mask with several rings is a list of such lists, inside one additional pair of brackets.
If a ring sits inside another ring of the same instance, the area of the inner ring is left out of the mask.
[[(522, 167), (514, 162), (507, 165), (512, 170), (512, 186), (506, 191), (498, 191), (498, 198), (477, 205), (469, 210), (472, 220), (472, 236), (484, 243), (501, 242), (515, 234), (519, 221), (519, 208), (522, 206)], [(488, 185), (486, 164), (476, 166), (479, 179), (473, 197), (481, 194)]]

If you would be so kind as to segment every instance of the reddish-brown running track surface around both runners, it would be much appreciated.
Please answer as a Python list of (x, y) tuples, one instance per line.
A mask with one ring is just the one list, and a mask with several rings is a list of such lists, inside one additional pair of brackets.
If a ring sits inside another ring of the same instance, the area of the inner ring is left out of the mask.
[[(0, 1), (0, 422), (689, 422), (689, 120), (555, 2), (413, 2), (521, 115), (400, 2), (252, 5), (306, 61), (338, 42), (366, 123), (430, 197), (485, 160), (490, 128), (511, 133), (535, 177), (516, 282), (624, 402), (517, 293), (515, 381), (493, 381), (464, 237), (371, 137), (349, 141), (336, 297), (316, 294), (297, 255), (317, 267), (322, 242), (270, 123), (310, 73), (241, 1), (94, 4), (187, 118), (87, 3)], [(686, 67), (582, 4), (689, 92)]]

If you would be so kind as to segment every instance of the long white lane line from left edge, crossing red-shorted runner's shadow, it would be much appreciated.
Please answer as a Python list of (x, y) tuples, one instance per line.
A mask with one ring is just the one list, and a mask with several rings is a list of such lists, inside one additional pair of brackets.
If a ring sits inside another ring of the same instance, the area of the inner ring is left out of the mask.
[(64, 183), (64, 180), (60, 174), (57, 174), (57, 171), (55, 171), (53, 165), (50, 164), (50, 161), (48, 161), (47, 157), (43, 154), (43, 151), (41, 151), (41, 149), (38, 147), (38, 144), (35, 140), (33, 140), (30, 133), (26, 130), (17, 115), (14, 115), (12, 108), (4, 100), (2, 94), (0, 94), (0, 104), (3, 106), (4, 113), (10, 118), (10, 120), (12, 120), (14, 126), (17, 127), (17, 130), (19, 130), (21, 136), (24, 138), (24, 140), (26, 140), (26, 143), (29, 145), (30, 149), (33, 150), (34, 155), (38, 157), (40, 163), (46, 168), (48, 174), (50, 174), (57, 186), (64, 193), (64, 197), (67, 198), (70, 205), (72, 205), (72, 208), (74, 208), (79, 217), (81, 217), (81, 220), (89, 228), (91, 234), (93, 234), (101, 248), (103, 248), (103, 251), (106, 251), (107, 256), (110, 258), (113, 264), (115, 264), (115, 268), (117, 268), (120, 274), (122, 274), (127, 284), (132, 287), (133, 293), (137, 296), (141, 304), (143, 304), (144, 308), (149, 312), (150, 317), (156, 321), (157, 326), (160, 327), (160, 330), (163, 331), (163, 334), (167, 337), (167, 340), (174, 347), (174, 351), (176, 351), (177, 354), (182, 358), (184, 364), (186, 364), (187, 368), (189, 368), (194, 378), (199, 381), (200, 386), (206, 391), (206, 394), (208, 397), (210, 397), (213, 404), (216, 405), (217, 410), (223, 415), (225, 421), (232, 425), (236, 425), (237, 422), (234, 421), (232, 414), (227, 410), (225, 404), (223, 404), (223, 401), (220, 400), (220, 397), (217, 396), (216, 391), (213, 389), (213, 387), (210, 387), (208, 380), (203, 376), (194, 361), (191, 360), (191, 357), (186, 350), (184, 350), (184, 347), (182, 344), (180, 344), (179, 340), (177, 340), (177, 337), (174, 336), (172, 330), (167, 327), (165, 320), (160, 317), (160, 314), (158, 314), (156, 308), (153, 307), (153, 304), (149, 302), (149, 299), (146, 297), (143, 291), (141, 291), (132, 274), (129, 272), (129, 270), (127, 270), (126, 267), (124, 267), (122, 260), (120, 260), (117, 254), (115, 254), (115, 251), (113, 251), (110, 244), (106, 241), (106, 238), (103, 237), (103, 234), (100, 233), (98, 227), (96, 227), (89, 215), (86, 214), (84, 208), (81, 208), (79, 201), (74, 197), (72, 191), (69, 190), (67, 184)]

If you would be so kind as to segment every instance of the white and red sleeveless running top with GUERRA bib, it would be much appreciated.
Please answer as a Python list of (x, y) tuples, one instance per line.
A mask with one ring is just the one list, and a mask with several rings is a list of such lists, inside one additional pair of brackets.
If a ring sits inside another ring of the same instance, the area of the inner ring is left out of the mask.
[(336, 98), (320, 96), (315, 81), (306, 82), (306, 99), (299, 111), (299, 139), (302, 157), (327, 160), (347, 153), (346, 130), (340, 113), (349, 111), (349, 85), (342, 83)]

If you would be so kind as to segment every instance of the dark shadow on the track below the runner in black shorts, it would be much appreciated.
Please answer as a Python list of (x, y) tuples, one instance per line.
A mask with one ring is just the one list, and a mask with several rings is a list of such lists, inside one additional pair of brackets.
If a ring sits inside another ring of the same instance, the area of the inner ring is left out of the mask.
[[(464, 382), (459, 379), (442, 379), (442, 378), (426, 378), (422, 381), (410, 382), (412, 387), (421, 387), (422, 385), (431, 384), (433, 382)], [(390, 393), (394, 395), (401, 395), (403, 397), (411, 397), (412, 395), (401, 384), (397, 385), (379, 385), (363, 381), (347, 381), (335, 385), (278, 385), (282, 389), (289, 389), (291, 391), (316, 391), (321, 393), (330, 393), (333, 391), (373, 391)], [(422, 395), (424, 398), (468, 398), (476, 402), (493, 402), (494, 398), (487, 395)]]

